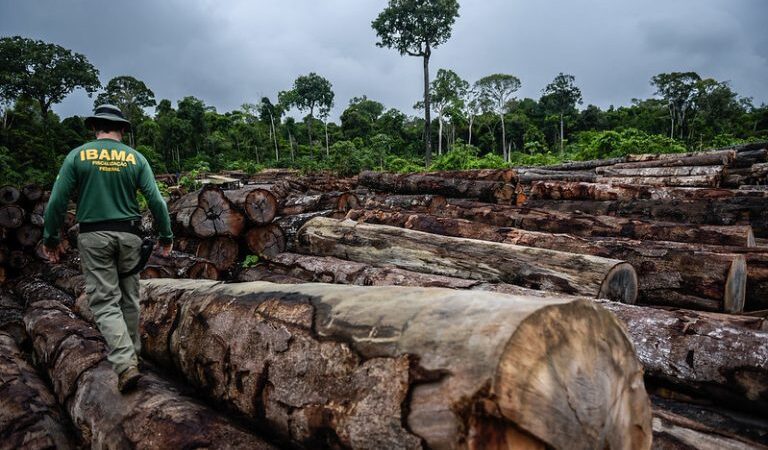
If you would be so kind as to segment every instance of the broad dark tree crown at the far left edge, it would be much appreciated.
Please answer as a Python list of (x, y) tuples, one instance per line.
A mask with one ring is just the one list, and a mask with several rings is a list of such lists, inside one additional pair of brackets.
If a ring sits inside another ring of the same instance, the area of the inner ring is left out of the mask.
[(99, 71), (85, 56), (56, 44), (21, 36), (0, 39), (0, 97), (28, 96), (43, 117), (52, 104), (77, 88), (90, 96), (101, 86)]

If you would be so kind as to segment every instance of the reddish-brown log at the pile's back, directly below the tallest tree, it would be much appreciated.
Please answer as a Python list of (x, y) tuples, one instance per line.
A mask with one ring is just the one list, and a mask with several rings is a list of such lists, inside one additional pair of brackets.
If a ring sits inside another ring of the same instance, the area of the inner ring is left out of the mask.
[(393, 194), (436, 194), (446, 197), (478, 198), (489, 202), (509, 202), (514, 198), (514, 186), (496, 181), (441, 178), (423, 174), (394, 174), (362, 172), (362, 186)]

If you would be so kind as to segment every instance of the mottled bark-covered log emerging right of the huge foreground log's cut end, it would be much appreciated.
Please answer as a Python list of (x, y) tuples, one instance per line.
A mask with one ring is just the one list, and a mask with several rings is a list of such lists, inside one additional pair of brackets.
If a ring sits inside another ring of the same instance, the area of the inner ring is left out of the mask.
[(734, 408), (768, 412), (764, 320), (601, 305), (627, 325), (647, 379)]

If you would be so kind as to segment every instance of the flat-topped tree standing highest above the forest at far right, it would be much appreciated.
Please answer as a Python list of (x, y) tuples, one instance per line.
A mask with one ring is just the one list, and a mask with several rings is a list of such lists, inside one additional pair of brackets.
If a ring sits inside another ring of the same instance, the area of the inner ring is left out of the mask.
[(700, 81), (701, 77), (696, 72), (660, 73), (651, 78), (651, 85), (656, 87), (656, 95), (666, 100), (669, 107), (670, 138), (675, 137), (675, 126), (678, 136), (683, 137), (685, 121), (694, 106), (696, 88)]

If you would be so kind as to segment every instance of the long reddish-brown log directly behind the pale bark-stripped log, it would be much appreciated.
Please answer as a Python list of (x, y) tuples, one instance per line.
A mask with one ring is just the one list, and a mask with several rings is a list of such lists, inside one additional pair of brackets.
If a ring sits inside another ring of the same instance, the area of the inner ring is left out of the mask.
[(585, 239), (427, 214), (363, 211), (353, 215), (366, 223), (619, 259), (637, 271), (638, 303), (731, 313), (744, 309), (747, 264), (739, 254), (716, 253), (675, 242)]

